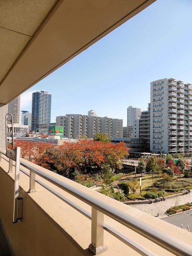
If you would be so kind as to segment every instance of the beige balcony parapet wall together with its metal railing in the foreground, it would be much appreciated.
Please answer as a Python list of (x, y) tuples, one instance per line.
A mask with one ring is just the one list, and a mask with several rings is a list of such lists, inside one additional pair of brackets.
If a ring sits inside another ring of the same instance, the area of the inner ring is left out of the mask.
[(135, 208), (133, 211), (131, 206), (24, 159), (20, 159), (22, 168), (16, 176), (23, 198), (22, 221), (13, 224), (18, 165), (15, 169), (9, 162), (12, 164), (1, 154), (1, 220), (15, 255), (93, 255), (91, 251), (96, 248), (94, 255), (100, 251), (114, 255), (114, 245), (119, 255), (125, 251), (131, 255), (166, 255), (167, 249), (190, 250), (184, 241), (191, 243), (192, 234), (185, 238), (186, 231), (176, 226)]

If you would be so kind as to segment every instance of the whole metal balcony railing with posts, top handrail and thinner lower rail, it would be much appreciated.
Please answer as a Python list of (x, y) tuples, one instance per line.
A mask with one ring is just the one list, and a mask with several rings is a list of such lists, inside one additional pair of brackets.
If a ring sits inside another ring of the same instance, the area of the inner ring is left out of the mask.
[[(1, 161), (1, 158), (4, 158), (2, 157), (2, 154), (5, 155), (5, 152), (0, 151), (0, 161)], [(137, 253), (140, 253), (145, 256), (155, 255), (154, 253), (152, 253), (151, 251), (149, 251), (147, 248), (143, 247), (136, 241), (132, 241), (130, 238), (126, 237), (125, 235), (116, 231), (114, 228), (112, 228), (108, 224), (104, 223), (104, 214), (105, 214), (110, 218), (114, 219), (115, 221), (126, 226), (127, 228), (132, 229), (133, 231), (140, 234), (141, 236), (161, 246), (162, 248), (165, 248), (167, 251), (174, 253), (177, 256), (192, 255), (192, 246), (190, 246), (189, 244), (184, 243), (176, 238), (173, 238), (167, 233), (164, 233), (158, 230), (157, 228), (154, 228), (138, 220), (137, 218), (130, 216), (124, 211), (121, 211), (111, 206), (110, 204), (107, 204), (104, 201), (94, 196), (91, 196), (90, 194), (85, 193), (84, 191), (79, 190), (68, 183), (65, 183), (59, 180), (54, 176), (49, 175), (48, 173), (40, 171), (39, 168), (35, 167), (35, 165), (31, 164), (29, 161), (23, 161), (22, 159), (20, 161), (19, 155), (17, 155), (15, 164), (13, 163), (14, 161), (12, 159), (9, 159), (9, 160), (7, 160), (7, 158), (4, 158), (4, 159), (10, 163), (9, 164), (10, 167), (13, 165), (15, 166), (15, 169), (17, 168), (18, 171), (21, 171), (25, 175), (30, 176), (29, 193), (30, 191), (33, 191), (34, 193), (40, 193), (35, 191), (35, 183), (39, 183), (42, 187), (50, 191), (52, 194), (60, 198), (62, 201), (65, 201), (67, 204), (69, 204), (70, 206), (75, 208), (78, 212), (82, 213), (85, 217), (91, 220), (92, 232), (91, 232), (91, 244), (89, 248), (95, 254), (98, 254), (107, 249), (106, 246), (104, 245), (104, 230), (106, 230), (116, 238), (120, 239), (123, 243), (131, 246), (133, 249), (135, 249), (135, 251), (137, 251)], [(30, 174), (28, 174), (25, 170), (20, 168), (20, 164), (25, 168), (27, 168), (30, 171)], [(56, 187), (61, 188), (63, 191), (66, 191), (72, 196), (75, 196), (75, 198), (78, 198), (79, 200), (91, 206), (92, 214), (84, 210), (82, 207), (78, 206), (76, 203), (73, 203), (69, 198), (62, 196), (62, 194), (55, 191), (55, 189), (51, 188), (50, 186), (47, 186), (45, 183), (43, 183), (39, 179), (36, 179), (35, 178), (36, 175), (40, 176), (45, 181), (49, 181), (50, 183), (54, 184)], [(19, 175), (17, 175), (17, 178), (16, 178), (16, 171), (15, 171), (15, 181), (18, 186)], [(14, 201), (15, 201), (15, 198), (14, 198)]]

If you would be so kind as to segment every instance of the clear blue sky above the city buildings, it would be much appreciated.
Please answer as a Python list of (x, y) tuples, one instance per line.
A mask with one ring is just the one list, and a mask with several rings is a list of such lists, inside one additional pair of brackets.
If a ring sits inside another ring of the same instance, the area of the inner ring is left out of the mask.
[(52, 122), (94, 109), (126, 125), (127, 107), (147, 109), (150, 82), (166, 77), (192, 83), (192, 0), (157, 0), (23, 93), (21, 110), (46, 90)]

